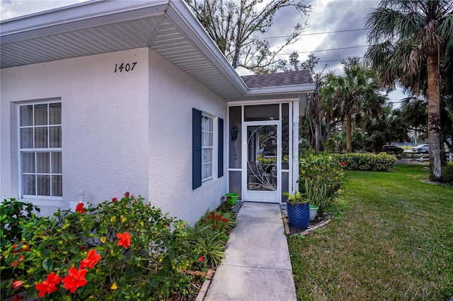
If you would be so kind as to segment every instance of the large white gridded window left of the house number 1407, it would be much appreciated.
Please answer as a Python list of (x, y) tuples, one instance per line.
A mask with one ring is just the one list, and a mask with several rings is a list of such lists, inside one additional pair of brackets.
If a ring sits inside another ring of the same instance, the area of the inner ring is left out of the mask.
[(62, 104), (21, 105), (19, 114), (22, 197), (61, 199)]

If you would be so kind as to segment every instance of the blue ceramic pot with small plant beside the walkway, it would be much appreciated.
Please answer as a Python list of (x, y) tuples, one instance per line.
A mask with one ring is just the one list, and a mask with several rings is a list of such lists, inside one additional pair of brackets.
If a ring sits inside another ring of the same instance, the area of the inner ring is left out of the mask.
[(310, 223), (310, 204), (304, 194), (295, 191), (294, 194), (284, 192), (287, 196), (287, 213), (289, 225), (295, 228), (306, 229)]

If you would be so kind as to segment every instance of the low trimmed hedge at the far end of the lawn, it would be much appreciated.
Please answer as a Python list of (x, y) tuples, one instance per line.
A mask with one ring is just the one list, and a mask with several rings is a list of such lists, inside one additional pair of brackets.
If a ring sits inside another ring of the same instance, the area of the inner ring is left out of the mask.
[(394, 155), (386, 153), (344, 153), (333, 156), (344, 163), (346, 170), (390, 171), (396, 162)]

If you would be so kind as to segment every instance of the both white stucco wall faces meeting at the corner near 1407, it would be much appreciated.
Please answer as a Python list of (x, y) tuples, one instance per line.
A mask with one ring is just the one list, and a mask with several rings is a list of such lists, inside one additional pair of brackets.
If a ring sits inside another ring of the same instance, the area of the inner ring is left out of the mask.
[(227, 141), (226, 101), (147, 48), (1, 70), (1, 199), (19, 197), (18, 105), (56, 99), (63, 201), (34, 200), (43, 215), (125, 191), (190, 224), (219, 206), (227, 172), (224, 163), (217, 178), (217, 119), (213, 179), (192, 189), (192, 108), (223, 118)]

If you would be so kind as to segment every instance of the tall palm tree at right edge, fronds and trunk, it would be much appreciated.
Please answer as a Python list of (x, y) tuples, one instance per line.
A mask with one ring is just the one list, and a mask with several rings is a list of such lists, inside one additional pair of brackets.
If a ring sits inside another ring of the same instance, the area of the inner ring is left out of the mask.
[(382, 0), (367, 15), (365, 25), (370, 44), (365, 56), (382, 83), (392, 88), (403, 85), (413, 95), (428, 97), (430, 179), (438, 180), (442, 174), (440, 62), (453, 48), (453, 2)]

